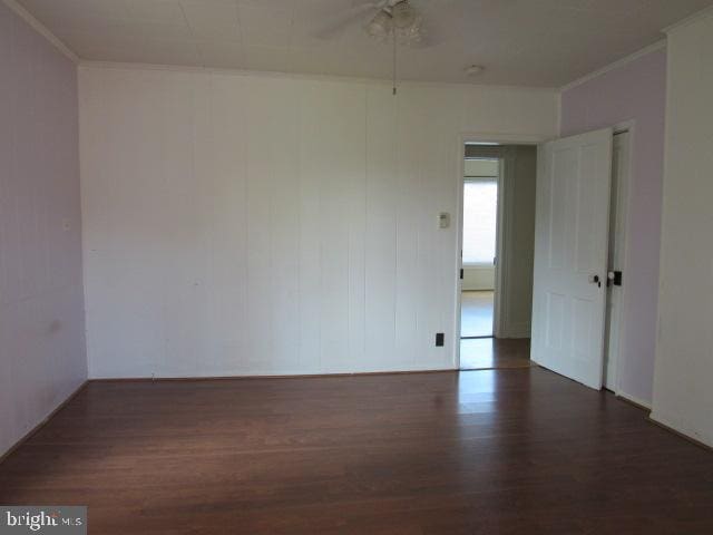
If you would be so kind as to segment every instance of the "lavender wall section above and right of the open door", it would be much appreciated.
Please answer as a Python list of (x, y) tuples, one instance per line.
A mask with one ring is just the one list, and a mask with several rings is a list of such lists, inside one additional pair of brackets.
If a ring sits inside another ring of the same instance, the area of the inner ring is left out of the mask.
[(656, 342), (658, 252), (666, 109), (666, 51), (661, 49), (608, 71), (561, 96), (561, 134), (636, 121), (629, 186), (628, 285), (618, 369), (622, 396), (651, 403)]

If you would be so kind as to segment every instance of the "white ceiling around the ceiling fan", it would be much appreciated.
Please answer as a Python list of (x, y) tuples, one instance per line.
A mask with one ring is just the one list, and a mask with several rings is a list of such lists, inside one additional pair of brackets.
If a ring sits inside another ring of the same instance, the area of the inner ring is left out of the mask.
[[(19, 0), (86, 60), (391, 76), (388, 45), (359, 22), (323, 29), (368, 0)], [(432, 46), (399, 51), (399, 76), (559, 87), (662, 39), (713, 0), (411, 0)], [(463, 68), (484, 65), (468, 78)]]

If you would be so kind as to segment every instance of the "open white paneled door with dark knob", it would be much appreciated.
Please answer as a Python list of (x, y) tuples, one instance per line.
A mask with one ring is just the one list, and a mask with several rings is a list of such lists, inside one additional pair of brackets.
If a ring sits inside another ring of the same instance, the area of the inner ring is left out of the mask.
[(538, 364), (600, 389), (613, 130), (540, 147), (533, 349)]

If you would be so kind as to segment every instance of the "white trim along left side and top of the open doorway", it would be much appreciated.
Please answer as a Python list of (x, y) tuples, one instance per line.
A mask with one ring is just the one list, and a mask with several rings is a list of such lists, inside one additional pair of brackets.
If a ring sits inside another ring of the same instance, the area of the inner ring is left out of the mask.
[[(477, 133), (467, 132), (461, 133), (458, 136), (458, 174), (456, 175), (456, 270), (453, 275), (456, 276), (456, 284), (453, 284), (455, 310), (452, 311), (453, 318), (453, 332), (456, 333), (456, 340), (453, 340), (453, 369), (460, 369), (460, 309), (461, 309), (461, 280), (458, 276), (458, 272), (462, 268), (461, 251), (463, 249), (463, 175), (466, 174), (466, 144), (467, 143), (497, 143), (499, 145), (539, 145), (549, 139), (547, 136), (538, 136), (533, 134), (494, 134), (494, 133)], [(538, 153), (539, 157), (539, 153)], [(539, 159), (538, 159), (539, 160)], [(497, 299), (497, 298), (496, 298)]]

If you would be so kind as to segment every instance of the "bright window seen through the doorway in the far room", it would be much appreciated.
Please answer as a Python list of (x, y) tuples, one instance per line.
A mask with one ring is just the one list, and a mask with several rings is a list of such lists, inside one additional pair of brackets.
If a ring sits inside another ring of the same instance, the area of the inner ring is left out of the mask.
[(498, 183), (466, 178), (463, 187), (463, 264), (492, 265), (496, 255)]

